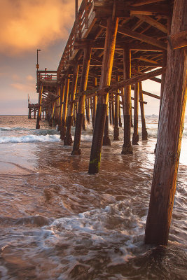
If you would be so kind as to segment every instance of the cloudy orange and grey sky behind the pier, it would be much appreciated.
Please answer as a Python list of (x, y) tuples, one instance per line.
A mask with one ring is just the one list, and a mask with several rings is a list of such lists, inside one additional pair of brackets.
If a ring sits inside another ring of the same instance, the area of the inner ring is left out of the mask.
[[(81, 1), (79, 1), (81, 2)], [(0, 114), (27, 114), (36, 94), (36, 49), (40, 69), (56, 70), (74, 23), (74, 0), (0, 0)], [(144, 90), (160, 94), (148, 81)], [(158, 114), (159, 100), (144, 96), (146, 114)]]

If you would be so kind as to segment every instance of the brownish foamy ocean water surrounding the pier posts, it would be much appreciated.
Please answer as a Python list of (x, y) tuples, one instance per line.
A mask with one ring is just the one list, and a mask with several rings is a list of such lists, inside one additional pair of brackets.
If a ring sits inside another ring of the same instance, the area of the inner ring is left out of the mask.
[[(102, 148), (88, 174), (92, 126), (80, 156), (55, 127), (27, 116), (0, 116), (1, 280), (187, 279), (187, 118), (168, 246), (144, 244), (158, 116), (146, 116), (148, 141), (121, 155)], [(74, 128), (72, 129), (74, 134)]]

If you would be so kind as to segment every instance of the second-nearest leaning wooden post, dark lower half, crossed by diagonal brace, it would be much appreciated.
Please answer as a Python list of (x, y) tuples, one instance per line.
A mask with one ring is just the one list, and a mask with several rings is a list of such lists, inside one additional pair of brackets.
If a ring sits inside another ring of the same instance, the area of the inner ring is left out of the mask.
[[(106, 38), (104, 43), (104, 57), (102, 61), (102, 73), (99, 83), (99, 89), (110, 85), (111, 72), (113, 66), (113, 56), (116, 46), (116, 34), (118, 29), (118, 18), (108, 18), (106, 27)], [(104, 125), (106, 119), (106, 110), (109, 102), (109, 93), (98, 98), (97, 113), (95, 118), (95, 127), (92, 139), (92, 148), (90, 154), (90, 165), (88, 172), (95, 174), (99, 172), (101, 161), (102, 141), (104, 134)], [(109, 122), (109, 120), (107, 120)]]

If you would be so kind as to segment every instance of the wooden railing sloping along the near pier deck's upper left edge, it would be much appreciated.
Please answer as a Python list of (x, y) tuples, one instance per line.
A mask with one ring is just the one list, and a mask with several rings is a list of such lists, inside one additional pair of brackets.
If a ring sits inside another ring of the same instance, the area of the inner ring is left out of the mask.
[(74, 57), (76, 51), (74, 50), (74, 43), (76, 39), (83, 38), (85, 29), (89, 27), (89, 18), (93, 10), (94, 0), (83, 0), (78, 10), (77, 18), (74, 22), (74, 26), (71, 29), (67, 45), (64, 48), (64, 52), (60, 59), (60, 64), (57, 69), (57, 78), (61, 78), (61, 71), (66, 69), (71, 57)]

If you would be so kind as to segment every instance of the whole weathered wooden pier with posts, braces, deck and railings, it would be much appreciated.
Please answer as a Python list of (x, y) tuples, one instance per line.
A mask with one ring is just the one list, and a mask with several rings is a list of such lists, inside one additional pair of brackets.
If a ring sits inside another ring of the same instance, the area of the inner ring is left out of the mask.
[[(160, 99), (148, 244), (166, 245), (168, 240), (186, 106), (186, 45), (187, 0), (83, 0), (79, 10), (76, 1), (76, 20), (57, 71), (37, 70), (36, 128), (45, 108), (49, 124), (58, 125), (64, 145), (71, 145), (76, 124), (71, 152), (76, 156), (81, 155), (85, 121), (92, 122), (90, 174), (99, 172), (102, 146), (111, 145), (109, 123), (118, 141), (123, 110), (121, 153), (132, 154), (139, 138), (147, 139), (144, 95)], [(160, 96), (144, 91), (141, 82), (147, 79), (161, 84)]]

